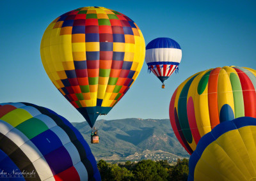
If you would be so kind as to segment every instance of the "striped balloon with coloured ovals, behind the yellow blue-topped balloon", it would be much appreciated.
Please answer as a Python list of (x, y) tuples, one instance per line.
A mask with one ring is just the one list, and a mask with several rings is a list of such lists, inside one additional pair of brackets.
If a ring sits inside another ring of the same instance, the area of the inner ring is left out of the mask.
[(190, 76), (170, 101), (173, 131), (191, 154), (204, 134), (238, 117), (256, 118), (256, 71), (225, 66)]

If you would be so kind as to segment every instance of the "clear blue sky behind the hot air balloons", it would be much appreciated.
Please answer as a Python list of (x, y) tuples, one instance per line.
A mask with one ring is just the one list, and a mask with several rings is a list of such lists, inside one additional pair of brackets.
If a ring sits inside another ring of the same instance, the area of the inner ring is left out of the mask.
[(182, 48), (179, 74), (166, 89), (144, 62), (118, 104), (98, 119), (167, 119), (176, 87), (198, 71), (218, 66), (256, 69), (256, 1), (0, 1), (0, 102), (51, 108), (70, 122), (83, 117), (54, 87), (40, 59), (40, 41), (54, 18), (83, 6), (120, 11), (140, 27), (145, 43), (168, 37)]

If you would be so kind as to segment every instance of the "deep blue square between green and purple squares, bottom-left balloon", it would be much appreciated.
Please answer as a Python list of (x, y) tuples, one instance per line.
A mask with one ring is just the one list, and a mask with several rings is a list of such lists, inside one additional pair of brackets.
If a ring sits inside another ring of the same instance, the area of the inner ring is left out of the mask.
[(49, 154), (49, 152), (52, 152), (52, 150), (62, 146), (60, 138), (58, 138), (58, 136), (50, 129), (44, 131), (41, 134), (38, 134), (32, 138), (31, 141), (34, 143), (34, 145), (36, 145), (38, 150), (40, 150), (44, 156)]

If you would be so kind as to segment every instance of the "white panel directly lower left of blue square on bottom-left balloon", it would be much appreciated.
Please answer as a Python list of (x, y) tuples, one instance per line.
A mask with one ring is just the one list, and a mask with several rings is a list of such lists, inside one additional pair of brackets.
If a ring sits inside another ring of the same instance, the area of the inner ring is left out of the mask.
[(24, 145), (22, 145), (20, 149), (22, 150), (22, 152), (24, 152), (24, 154), (26, 154), (26, 156), (29, 158), (29, 160), (32, 163), (37, 159), (39, 159), (40, 157), (42, 157), (41, 152), (38, 150), (38, 148), (36, 148), (34, 143), (31, 142), (30, 140), (27, 141)]

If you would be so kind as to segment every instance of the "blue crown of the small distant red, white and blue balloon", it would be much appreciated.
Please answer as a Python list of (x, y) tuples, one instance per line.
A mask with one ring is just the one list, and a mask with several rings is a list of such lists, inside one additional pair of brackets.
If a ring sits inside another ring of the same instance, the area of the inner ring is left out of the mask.
[(152, 48), (177, 48), (181, 49), (179, 43), (171, 38), (156, 38), (150, 41), (146, 47), (146, 50)]

